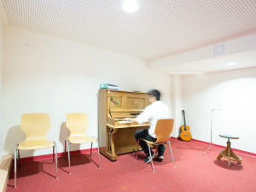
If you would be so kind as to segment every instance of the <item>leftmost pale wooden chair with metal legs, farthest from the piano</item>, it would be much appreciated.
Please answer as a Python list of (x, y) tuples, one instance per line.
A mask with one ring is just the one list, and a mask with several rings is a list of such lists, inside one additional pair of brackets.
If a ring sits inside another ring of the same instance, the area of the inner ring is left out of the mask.
[(26, 133), (26, 140), (15, 146), (15, 188), (17, 187), (16, 178), (16, 159), (18, 152), (19, 167), (20, 167), (20, 150), (32, 150), (40, 148), (53, 148), (53, 160), (55, 154), (56, 164), (56, 178), (58, 178), (57, 169), (57, 146), (54, 141), (50, 141), (46, 137), (47, 131), (49, 131), (50, 122), (49, 114), (46, 113), (25, 113), (21, 116), (20, 129)]

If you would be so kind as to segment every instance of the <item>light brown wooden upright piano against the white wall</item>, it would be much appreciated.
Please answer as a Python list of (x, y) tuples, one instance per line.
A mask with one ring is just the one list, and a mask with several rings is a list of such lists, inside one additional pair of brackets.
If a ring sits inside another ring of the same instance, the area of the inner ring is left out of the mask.
[(148, 106), (148, 94), (124, 90), (99, 90), (99, 143), (100, 153), (109, 160), (118, 154), (137, 150), (134, 133), (149, 128), (149, 123), (122, 123), (126, 117), (137, 117)]

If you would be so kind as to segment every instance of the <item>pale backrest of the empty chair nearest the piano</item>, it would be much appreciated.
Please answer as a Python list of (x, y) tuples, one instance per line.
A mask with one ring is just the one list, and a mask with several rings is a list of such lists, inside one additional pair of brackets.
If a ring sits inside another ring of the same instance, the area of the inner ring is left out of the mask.
[(70, 135), (85, 134), (89, 125), (86, 113), (67, 113), (66, 126), (70, 131)]

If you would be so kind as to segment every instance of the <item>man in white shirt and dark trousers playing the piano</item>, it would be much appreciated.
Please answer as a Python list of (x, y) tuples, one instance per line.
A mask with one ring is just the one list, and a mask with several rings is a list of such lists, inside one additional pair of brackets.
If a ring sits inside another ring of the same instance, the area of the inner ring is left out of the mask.
[[(148, 96), (149, 96), (149, 103), (144, 110), (143, 113), (140, 113), (137, 118), (125, 118), (124, 120), (131, 121), (133, 123), (143, 124), (145, 122), (150, 123), (149, 129), (143, 129), (136, 131), (134, 134), (134, 137), (138, 141), (139, 138), (147, 139), (151, 142), (156, 142), (156, 136), (154, 134), (154, 129), (156, 122), (159, 119), (168, 119), (169, 118), (169, 108), (166, 106), (165, 103), (160, 101), (160, 91), (159, 90), (148, 90)], [(149, 151), (148, 151), (148, 145), (147, 143), (143, 142), (143, 140), (140, 140), (140, 146), (143, 148), (144, 153), (147, 155), (147, 158), (144, 160), (145, 163), (149, 163), (151, 161)], [(158, 155), (154, 154), (154, 152), (151, 150), (152, 160), (156, 157), (163, 160), (164, 159), (164, 152), (165, 152), (165, 145), (161, 144), (158, 147)]]

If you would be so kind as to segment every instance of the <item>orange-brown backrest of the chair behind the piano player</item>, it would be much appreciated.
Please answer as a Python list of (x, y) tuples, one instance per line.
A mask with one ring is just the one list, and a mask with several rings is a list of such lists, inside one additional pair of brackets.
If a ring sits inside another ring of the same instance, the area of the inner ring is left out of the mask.
[(157, 143), (166, 143), (172, 133), (174, 119), (159, 119), (155, 125), (154, 134)]

